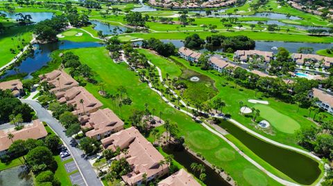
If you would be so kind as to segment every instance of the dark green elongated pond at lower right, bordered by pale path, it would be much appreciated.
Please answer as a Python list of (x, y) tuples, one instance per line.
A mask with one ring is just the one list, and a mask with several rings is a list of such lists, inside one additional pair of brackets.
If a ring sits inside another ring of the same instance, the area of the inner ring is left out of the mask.
[(221, 120), (219, 125), (257, 156), (302, 185), (311, 185), (321, 174), (318, 162), (307, 156), (259, 140), (226, 120)]

